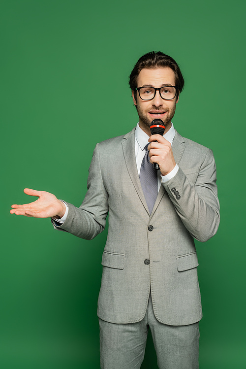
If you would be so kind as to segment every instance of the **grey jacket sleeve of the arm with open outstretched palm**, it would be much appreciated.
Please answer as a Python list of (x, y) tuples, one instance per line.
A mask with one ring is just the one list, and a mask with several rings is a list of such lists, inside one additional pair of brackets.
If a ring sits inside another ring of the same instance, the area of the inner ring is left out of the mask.
[(93, 152), (87, 188), (87, 194), (79, 208), (66, 202), (68, 205), (67, 218), (61, 226), (52, 221), (55, 229), (84, 239), (92, 239), (105, 229), (108, 193), (102, 181), (98, 144)]

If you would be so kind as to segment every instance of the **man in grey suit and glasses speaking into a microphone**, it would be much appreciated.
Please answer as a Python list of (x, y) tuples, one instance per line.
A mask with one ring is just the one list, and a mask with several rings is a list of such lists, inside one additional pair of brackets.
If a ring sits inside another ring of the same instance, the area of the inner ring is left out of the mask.
[[(202, 310), (194, 238), (204, 242), (218, 228), (215, 161), (211, 150), (174, 130), (184, 79), (171, 57), (145, 54), (129, 84), (139, 124), (96, 145), (80, 208), (25, 189), (39, 199), (10, 212), (53, 217), (56, 229), (86, 239), (104, 230), (109, 214), (98, 299), (101, 368), (140, 368), (151, 328), (160, 369), (197, 369)], [(151, 135), (154, 119), (164, 136)]]

